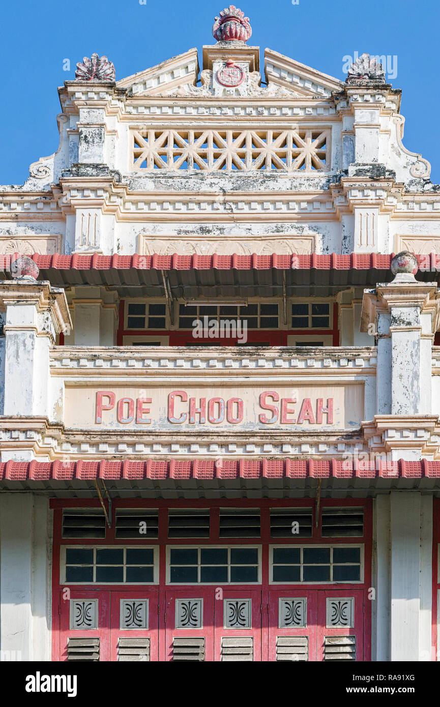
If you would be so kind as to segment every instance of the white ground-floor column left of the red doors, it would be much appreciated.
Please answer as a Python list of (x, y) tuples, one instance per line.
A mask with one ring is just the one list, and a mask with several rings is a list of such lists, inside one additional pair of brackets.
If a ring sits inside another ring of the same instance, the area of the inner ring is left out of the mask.
[(33, 493), (0, 495), (0, 659), (50, 660), (52, 513)]

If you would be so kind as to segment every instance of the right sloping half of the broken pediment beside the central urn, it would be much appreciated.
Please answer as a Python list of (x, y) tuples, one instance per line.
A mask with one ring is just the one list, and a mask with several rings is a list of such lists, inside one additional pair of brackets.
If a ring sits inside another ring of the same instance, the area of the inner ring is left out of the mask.
[(332, 91), (341, 90), (345, 85), (339, 79), (284, 57), (273, 49), (265, 49), (265, 75), (268, 84), (282, 86), (301, 98), (330, 98)]

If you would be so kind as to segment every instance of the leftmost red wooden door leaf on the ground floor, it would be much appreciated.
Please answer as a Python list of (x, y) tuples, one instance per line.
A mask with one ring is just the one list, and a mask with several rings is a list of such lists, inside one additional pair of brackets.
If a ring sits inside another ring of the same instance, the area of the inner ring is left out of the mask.
[(59, 660), (110, 660), (110, 592), (61, 591)]

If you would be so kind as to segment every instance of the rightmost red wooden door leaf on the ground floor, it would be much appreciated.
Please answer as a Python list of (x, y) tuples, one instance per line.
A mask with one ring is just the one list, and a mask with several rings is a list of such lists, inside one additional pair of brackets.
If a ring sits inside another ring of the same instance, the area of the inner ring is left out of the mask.
[(318, 591), (318, 660), (364, 660), (364, 590)]

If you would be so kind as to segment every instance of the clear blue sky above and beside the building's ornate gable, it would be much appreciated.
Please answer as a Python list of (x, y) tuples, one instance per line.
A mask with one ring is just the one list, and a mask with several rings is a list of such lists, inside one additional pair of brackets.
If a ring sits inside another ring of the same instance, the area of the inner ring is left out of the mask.
[[(1, 13), (0, 183), (22, 184), (30, 163), (58, 146), (57, 86), (74, 78), (93, 52), (115, 64), (116, 78), (154, 66), (190, 47), (214, 44), (219, 0), (21, 0)], [(248, 44), (270, 47), (345, 80), (343, 57), (390, 56), (403, 90), (405, 146), (432, 164), (440, 182), (439, 0), (246, 0)], [(63, 71), (69, 59), (71, 71)]]

